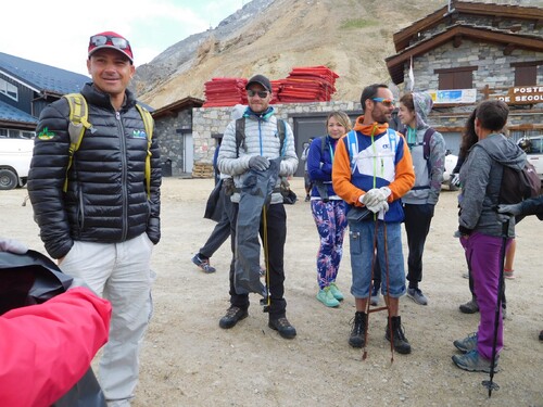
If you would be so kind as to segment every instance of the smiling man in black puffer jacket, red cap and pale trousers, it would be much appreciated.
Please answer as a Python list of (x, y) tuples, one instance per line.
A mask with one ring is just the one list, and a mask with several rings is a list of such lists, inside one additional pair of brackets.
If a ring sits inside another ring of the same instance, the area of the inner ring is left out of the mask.
[(152, 140), (148, 190), (148, 137), (127, 89), (132, 59), (129, 42), (118, 34), (90, 37), (87, 67), (92, 82), (81, 94), (91, 128), (68, 166), (68, 103), (63, 98), (47, 106), (36, 129), (28, 176), (47, 252), (64, 272), (80, 277), (113, 305), (99, 369), (109, 406), (129, 406), (134, 396), (139, 346), (151, 314), (151, 253), (161, 237), (159, 144)]

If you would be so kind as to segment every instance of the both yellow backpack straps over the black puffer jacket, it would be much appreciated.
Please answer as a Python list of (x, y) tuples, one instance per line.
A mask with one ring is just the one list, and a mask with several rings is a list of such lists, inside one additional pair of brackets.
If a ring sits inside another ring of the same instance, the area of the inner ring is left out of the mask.
[[(70, 104), (70, 125), (68, 125), (68, 133), (70, 133), (70, 157), (68, 165), (66, 167), (66, 179), (64, 181), (63, 191), (67, 191), (67, 171), (72, 166), (72, 162), (74, 160), (74, 154), (79, 149), (81, 144), (83, 136), (85, 135), (85, 130), (89, 129), (92, 131), (92, 125), (89, 123), (89, 109), (87, 105), (87, 101), (83, 97), (81, 93), (68, 93), (64, 94), (68, 104)], [(149, 111), (136, 103), (136, 107), (138, 109), (141, 118), (143, 119), (143, 126), (146, 127), (147, 133), (147, 157), (146, 157), (146, 189), (147, 196), (151, 196), (151, 142), (153, 139), (153, 117)]]

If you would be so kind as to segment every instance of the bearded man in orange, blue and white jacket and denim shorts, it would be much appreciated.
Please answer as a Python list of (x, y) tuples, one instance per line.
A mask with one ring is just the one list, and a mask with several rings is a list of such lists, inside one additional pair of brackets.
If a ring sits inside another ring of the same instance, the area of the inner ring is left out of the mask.
[(405, 139), (389, 129), (394, 103), (393, 94), (386, 85), (364, 88), (361, 98), (364, 115), (356, 119), (354, 130), (338, 143), (332, 182), (337, 194), (351, 205), (350, 212), (355, 214), (359, 208), (369, 209), (371, 215), (352, 216), (349, 220), (353, 276), (351, 293), (356, 304), (349, 344), (353, 347), (365, 346), (372, 259), (377, 249), (384, 282), (382, 293), (391, 316), (384, 336), (388, 341), (392, 340), (397, 353), (408, 354), (411, 345), (399, 315), (399, 298), (406, 292), (401, 198), (414, 186), (415, 173)]

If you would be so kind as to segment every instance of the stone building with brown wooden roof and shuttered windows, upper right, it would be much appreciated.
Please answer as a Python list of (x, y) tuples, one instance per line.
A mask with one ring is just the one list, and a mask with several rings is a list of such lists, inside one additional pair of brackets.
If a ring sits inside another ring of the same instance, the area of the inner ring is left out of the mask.
[(515, 139), (543, 133), (543, 9), (451, 0), (393, 40), (392, 81), (411, 89), (412, 68), (414, 90), (434, 94), (429, 122), (453, 152), (467, 116), (489, 98), (509, 104)]

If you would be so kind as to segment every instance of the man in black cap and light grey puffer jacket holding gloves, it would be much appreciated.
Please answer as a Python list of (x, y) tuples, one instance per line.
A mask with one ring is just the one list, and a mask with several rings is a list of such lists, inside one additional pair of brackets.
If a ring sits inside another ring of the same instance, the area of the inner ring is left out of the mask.
[[(262, 211), (266, 217), (260, 219), (260, 234), (267, 242), (266, 283), (268, 291), (269, 323), (268, 327), (278, 331), (285, 339), (292, 339), (296, 330), (286, 317), (287, 302), (285, 301), (285, 269), (283, 253), (287, 238), (287, 214), (283, 199), (280, 193), (281, 177), (292, 176), (298, 167), (298, 157), (294, 150), (294, 137), (286, 124), (285, 140), (279, 137), (274, 109), (269, 106), (272, 100), (272, 84), (263, 75), (253, 76), (247, 84), (249, 107), (243, 114), (244, 138), (238, 145), (236, 141), (236, 120), (232, 120), (225, 130), (217, 164), (220, 173), (233, 177), (237, 190), (241, 190), (243, 182), (252, 171), (266, 171), (270, 161), (279, 158), (279, 177), (274, 188), (266, 209)], [(231, 200), (238, 214), (240, 194), (236, 192)], [(266, 200), (267, 201), (267, 200)], [(266, 233), (266, 236), (264, 236)], [(232, 241), (236, 241), (236, 230), (232, 230)], [(237, 247), (239, 246), (238, 243)], [(238, 249), (236, 249), (238, 251)], [(237, 257), (237, 255), (235, 256)], [(230, 307), (220, 319), (219, 327), (229, 329), (238, 321), (248, 317), (249, 294), (241, 293), (235, 284), (235, 258), (230, 265)]]

